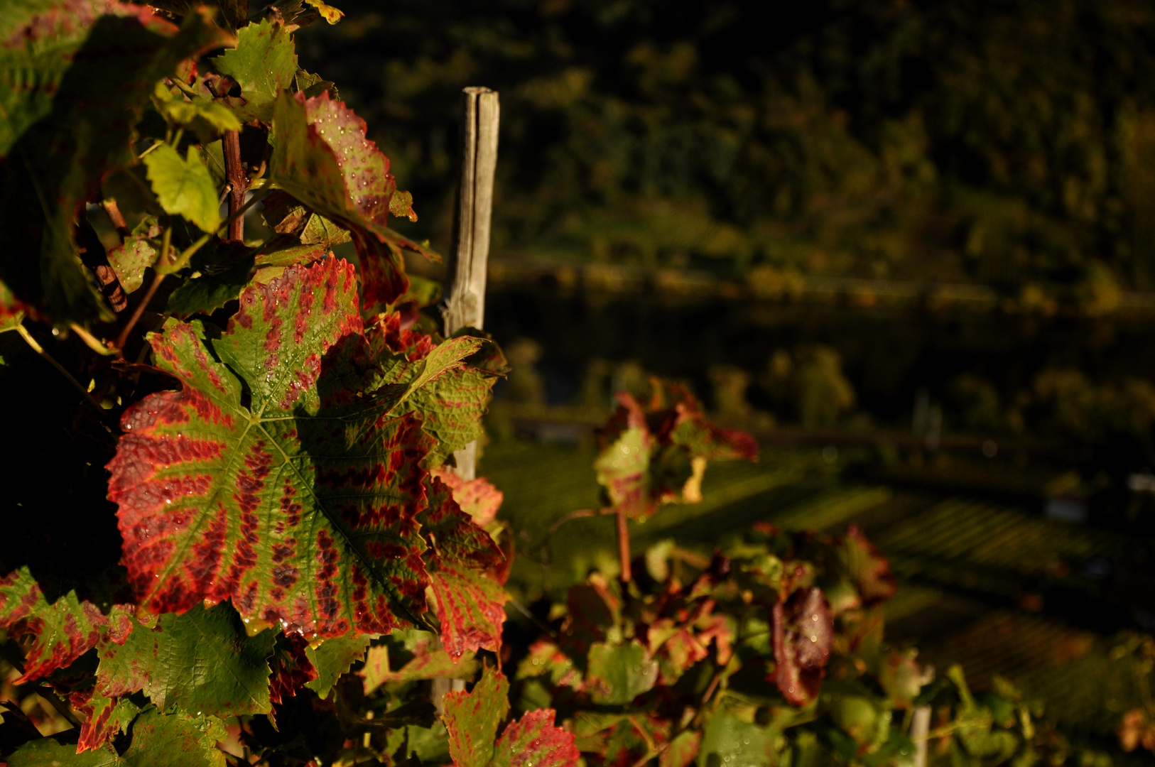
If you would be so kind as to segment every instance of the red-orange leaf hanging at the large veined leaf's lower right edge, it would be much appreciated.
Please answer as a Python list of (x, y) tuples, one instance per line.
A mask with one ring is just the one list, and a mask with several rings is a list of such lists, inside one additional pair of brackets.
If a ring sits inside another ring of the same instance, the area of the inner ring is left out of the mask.
[(430, 546), (430, 590), (445, 649), (454, 658), (467, 650), (498, 651), (508, 596), (489, 571), (504, 559), (501, 550), (438, 478), (430, 486), (429, 507), (417, 519)]

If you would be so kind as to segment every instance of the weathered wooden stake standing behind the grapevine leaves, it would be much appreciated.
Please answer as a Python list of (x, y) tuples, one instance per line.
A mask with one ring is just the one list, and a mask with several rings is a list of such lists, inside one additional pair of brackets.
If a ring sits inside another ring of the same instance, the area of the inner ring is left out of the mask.
[[(498, 164), (498, 94), (470, 87), (461, 94), (461, 176), (453, 216), (453, 245), (446, 263), (447, 285), (441, 304), (445, 335), (462, 328), (482, 329), (485, 321), (485, 275), (490, 258), (490, 219), (493, 213), (493, 174)], [(454, 471), (462, 479), (477, 475), (477, 442), (453, 454)], [(464, 690), (461, 679), (433, 680), (431, 698), (445, 712), (445, 693)]]

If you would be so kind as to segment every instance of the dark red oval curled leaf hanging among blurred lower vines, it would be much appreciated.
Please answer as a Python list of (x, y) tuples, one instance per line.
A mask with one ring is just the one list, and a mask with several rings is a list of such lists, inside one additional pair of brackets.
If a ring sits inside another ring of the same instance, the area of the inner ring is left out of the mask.
[(774, 605), (774, 683), (795, 706), (818, 695), (830, 657), (834, 621), (821, 589), (804, 588)]

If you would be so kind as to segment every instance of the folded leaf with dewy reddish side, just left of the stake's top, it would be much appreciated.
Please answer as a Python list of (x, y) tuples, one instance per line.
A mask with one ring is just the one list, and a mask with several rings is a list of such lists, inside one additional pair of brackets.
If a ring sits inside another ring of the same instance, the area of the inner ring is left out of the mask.
[(429, 253), (388, 228), (397, 185), (389, 159), (365, 137), (365, 121), (328, 92), (305, 98), (285, 91), (277, 99), (273, 128), (270, 179), (350, 230), (363, 306), (396, 301), (409, 289), (402, 248)]

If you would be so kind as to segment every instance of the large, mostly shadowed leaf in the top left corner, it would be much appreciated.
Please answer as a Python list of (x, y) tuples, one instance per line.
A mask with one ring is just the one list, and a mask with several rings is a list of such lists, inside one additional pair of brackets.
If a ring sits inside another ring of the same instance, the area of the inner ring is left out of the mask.
[(81, 265), (74, 223), (103, 179), (135, 161), (157, 80), (230, 42), (201, 13), (178, 30), (142, 6), (38, 0), (0, 21), (0, 280), (58, 323), (112, 319)]

